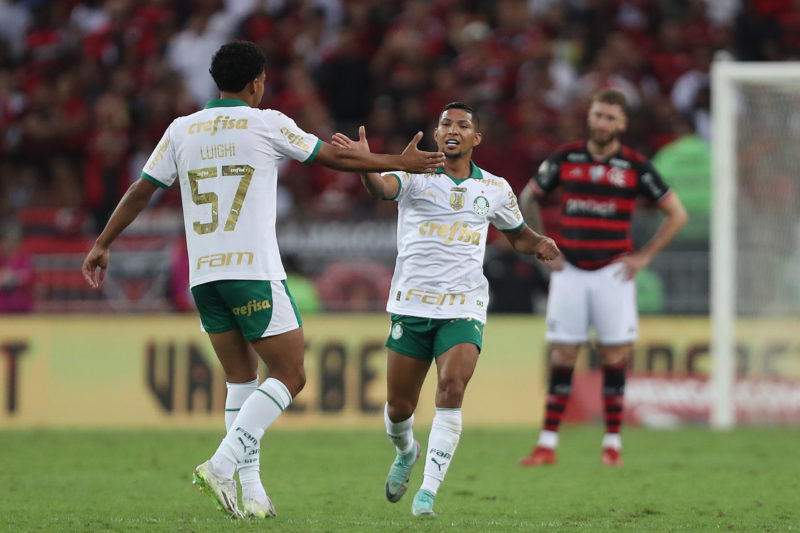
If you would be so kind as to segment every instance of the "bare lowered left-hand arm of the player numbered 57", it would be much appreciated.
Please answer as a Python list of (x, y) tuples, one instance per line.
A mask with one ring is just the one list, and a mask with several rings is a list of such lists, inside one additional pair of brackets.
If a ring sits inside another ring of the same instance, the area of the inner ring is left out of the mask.
[[(91, 288), (96, 289), (103, 284), (106, 268), (108, 268), (109, 246), (122, 233), (122, 230), (133, 222), (142, 209), (147, 207), (157, 188), (146, 179), (139, 178), (125, 191), (125, 195), (117, 204), (111, 218), (108, 219), (106, 227), (95, 240), (86, 259), (83, 260), (81, 272)], [(98, 269), (100, 269), (99, 272)]]

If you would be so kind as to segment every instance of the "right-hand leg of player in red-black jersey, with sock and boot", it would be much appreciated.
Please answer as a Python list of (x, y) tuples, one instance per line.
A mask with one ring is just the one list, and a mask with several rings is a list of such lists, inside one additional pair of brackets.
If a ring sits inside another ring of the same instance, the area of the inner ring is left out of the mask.
[(603, 417), (606, 433), (602, 442), (602, 461), (608, 466), (622, 466), (622, 410), (625, 394), (625, 367), (633, 351), (633, 343), (600, 346), (603, 360)]

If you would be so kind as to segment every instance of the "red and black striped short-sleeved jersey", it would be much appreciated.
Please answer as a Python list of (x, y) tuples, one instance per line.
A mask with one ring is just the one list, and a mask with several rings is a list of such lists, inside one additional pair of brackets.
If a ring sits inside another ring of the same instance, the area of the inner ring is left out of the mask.
[(636, 196), (663, 201), (670, 189), (643, 155), (622, 146), (595, 159), (585, 141), (561, 146), (539, 167), (529, 186), (541, 197), (561, 186), (561, 235), (564, 257), (595, 270), (633, 251), (631, 218)]

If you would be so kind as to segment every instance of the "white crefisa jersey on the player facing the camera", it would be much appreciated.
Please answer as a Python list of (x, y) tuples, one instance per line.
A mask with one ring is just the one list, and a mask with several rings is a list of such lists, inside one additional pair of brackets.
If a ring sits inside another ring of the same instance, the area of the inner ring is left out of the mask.
[(390, 313), (486, 322), (483, 256), (489, 223), (509, 233), (525, 223), (508, 182), (470, 165), (470, 177), (460, 180), (441, 168), (388, 173), (400, 182)]

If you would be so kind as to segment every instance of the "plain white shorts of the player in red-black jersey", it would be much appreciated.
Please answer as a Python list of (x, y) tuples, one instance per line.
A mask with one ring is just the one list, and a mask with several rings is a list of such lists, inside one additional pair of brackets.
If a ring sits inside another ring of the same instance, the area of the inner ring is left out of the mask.
[(625, 265), (611, 263), (598, 270), (581, 270), (564, 262), (550, 274), (547, 297), (548, 342), (582, 344), (594, 327), (597, 341), (606, 346), (636, 340), (639, 318), (636, 280), (623, 279)]

